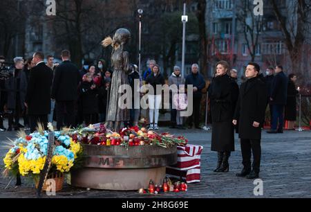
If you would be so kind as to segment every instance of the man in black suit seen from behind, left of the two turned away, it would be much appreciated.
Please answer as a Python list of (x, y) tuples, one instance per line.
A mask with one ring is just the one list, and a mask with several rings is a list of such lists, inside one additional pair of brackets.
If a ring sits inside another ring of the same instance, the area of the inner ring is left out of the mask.
[(35, 67), (30, 71), (25, 98), (30, 132), (35, 131), (38, 122), (43, 123), (45, 128), (47, 127), (50, 113), (50, 86), (53, 80), (53, 72), (44, 63), (43, 53), (34, 53), (32, 61)]

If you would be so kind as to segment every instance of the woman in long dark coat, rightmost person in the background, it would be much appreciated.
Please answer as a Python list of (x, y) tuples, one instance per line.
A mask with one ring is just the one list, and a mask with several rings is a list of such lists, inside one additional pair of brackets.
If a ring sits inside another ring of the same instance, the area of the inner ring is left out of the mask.
[(296, 75), (291, 73), (288, 78), (288, 100), (285, 107), (285, 120), (288, 121), (288, 129), (294, 130), (294, 123), (296, 121), (296, 95), (299, 91), (295, 86), (297, 80)]

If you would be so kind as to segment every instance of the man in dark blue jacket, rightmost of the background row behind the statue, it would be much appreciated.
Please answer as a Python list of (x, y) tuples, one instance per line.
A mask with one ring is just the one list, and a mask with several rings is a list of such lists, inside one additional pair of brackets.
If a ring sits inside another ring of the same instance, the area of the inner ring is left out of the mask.
[(202, 89), (205, 88), (205, 80), (200, 73), (198, 73), (198, 64), (193, 64), (191, 67), (192, 73), (190, 73), (185, 82), (185, 87), (187, 88), (187, 85), (193, 85), (193, 104), (194, 104), (194, 113), (189, 117), (189, 128), (192, 128), (192, 125), (194, 123), (194, 126), (196, 129), (200, 129), (200, 103), (202, 99)]

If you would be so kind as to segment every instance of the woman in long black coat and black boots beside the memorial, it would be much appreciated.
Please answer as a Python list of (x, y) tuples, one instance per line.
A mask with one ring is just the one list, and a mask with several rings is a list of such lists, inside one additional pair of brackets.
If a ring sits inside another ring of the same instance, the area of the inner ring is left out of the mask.
[(216, 77), (209, 87), (211, 100), (211, 151), (218, 152), (217, 168), (214, 172), (228, 172), (228, 159), (234, 151), (234, 125), (232, 118), (238, 100), (238, 85), (227, 75), (229, 64), (216, 64)]

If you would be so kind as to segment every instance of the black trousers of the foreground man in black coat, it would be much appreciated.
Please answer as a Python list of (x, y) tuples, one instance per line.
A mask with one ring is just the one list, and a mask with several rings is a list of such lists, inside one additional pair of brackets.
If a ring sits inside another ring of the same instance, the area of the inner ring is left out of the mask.
[(261, 140), (241, 139), (242, 164), (244, 168), (251, 168), (251, 156), (253, 153), (252, 168), (259, 173), (261, 166)]

